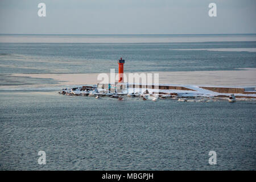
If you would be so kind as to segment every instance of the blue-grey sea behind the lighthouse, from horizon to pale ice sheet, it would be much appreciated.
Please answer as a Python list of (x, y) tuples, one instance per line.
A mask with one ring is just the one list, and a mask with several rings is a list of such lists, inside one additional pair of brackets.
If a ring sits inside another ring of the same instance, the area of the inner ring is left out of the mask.
[[(0, 43), (0, 86), (56, 83), (45, 78), (13, 77), (12, 73), (109, 73), (111, 68), (117, 70), (117, 59), (121, 56), (126, 60), (125, 72), (256, 68), (254, 34), (0, 35), (0, 42), (5, 38), (16, 42), (21, 39), (22, 43)], [(69, 42), (61, 42), (63, 39)], [(77, 42), (80, 39), (83, 42)], [(44, 40), (52, 42), (40, 43)], [(100, 43), (93, 43), (97, 41)]]

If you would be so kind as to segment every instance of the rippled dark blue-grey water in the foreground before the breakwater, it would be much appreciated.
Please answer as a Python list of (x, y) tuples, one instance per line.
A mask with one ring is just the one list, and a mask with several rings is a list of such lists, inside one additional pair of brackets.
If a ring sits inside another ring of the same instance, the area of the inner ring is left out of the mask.
[[(1, 92), (0, 169), (253, 169), (255, 104)], [(44, 150), (47, 164), (38, 164)], [(208, 152), (217, 152), (217, 165)]]

